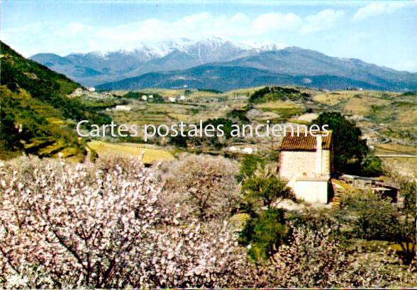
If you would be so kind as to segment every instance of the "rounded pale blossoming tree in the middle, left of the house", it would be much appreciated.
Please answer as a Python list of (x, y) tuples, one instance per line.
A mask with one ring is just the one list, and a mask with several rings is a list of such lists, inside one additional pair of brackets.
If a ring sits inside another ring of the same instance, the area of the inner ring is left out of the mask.
[(240, 187), (236, 165), (223, 157), (184, 155), (162, 165), (165, 180), (161, 200), (182, 207), (183, 214), (201, 220), (225, 217), (238, 207)]

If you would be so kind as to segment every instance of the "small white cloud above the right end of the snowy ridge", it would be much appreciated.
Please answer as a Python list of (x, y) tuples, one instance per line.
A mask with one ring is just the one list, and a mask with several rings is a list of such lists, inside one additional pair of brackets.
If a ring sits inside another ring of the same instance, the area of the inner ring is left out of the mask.
[(334, 11), (333, 9), (326, 9), (306, 17), (301, 33), (316, 33), (321, 30), (333, 28), (335, 23), (340, 21), (345, 16), (342, 10)]

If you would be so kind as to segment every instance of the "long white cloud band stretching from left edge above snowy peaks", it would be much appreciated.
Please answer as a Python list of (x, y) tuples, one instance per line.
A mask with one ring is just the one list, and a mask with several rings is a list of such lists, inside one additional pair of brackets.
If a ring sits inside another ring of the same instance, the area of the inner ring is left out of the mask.
[[(262, 13), (249, 17), (245, 13), (231, 16), (213, 15), (208, 12), (194, 13), (165, 21), (148, 18), (135, 23), (112, 26), (87, 25), (82, 22), (52, 23), (44, 21), (31, 25), (16, 26), (1, 31), (1, 37), (26, 56), (38, 52), (106, 52), (132, 50), (143, 43), (173, 40), (182, 37), (199, 40), (218, 36), (240, 41), (271, 41), (274, 34), (314, 33), (333, 26), (343, 11), (321, 11), (305, 19), (295, 13)], [(33, 37), (36, 35), (36, 37)], [(274, 37), (273, 41), (280, 41)], [(62, 45), (65, 43), (65, 45)]]

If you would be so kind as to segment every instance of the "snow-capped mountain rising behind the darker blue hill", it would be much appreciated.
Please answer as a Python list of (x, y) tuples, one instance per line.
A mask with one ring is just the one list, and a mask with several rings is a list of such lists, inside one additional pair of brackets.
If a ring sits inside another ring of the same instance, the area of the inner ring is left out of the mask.
[(229, 62), (282, 49), (276, 43), (236, 43), (221, 37), (201, 40), (179, 38), (161, 42), (140, 42), (130, 49), (112, 52), (35, 54), (30, 59), (69, 76), (86, 86), (138, 76), (150, 71), (189, 69), (214, 62)]

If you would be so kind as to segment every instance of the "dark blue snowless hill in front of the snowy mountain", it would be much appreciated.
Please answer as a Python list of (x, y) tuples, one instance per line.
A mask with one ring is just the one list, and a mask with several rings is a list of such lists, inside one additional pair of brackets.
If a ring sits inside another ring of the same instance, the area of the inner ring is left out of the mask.
[(102, 90), (138, 90), (142, 88), (211, 88), (230, 91), (236, 88), (264, 86), (271, 84), (297, 85), (313, 88), (338, 90), (356, 87), (369, 90), (401, 91), (404, 88), (415, 89), (408, 82), (387, 81), (375, 78), (375, 81), (361, 81), (346, 76), (335, 75), (297, 75), (279, 74), (265, 69), (244, 66), (204, 65), (181, 71), (166, 71), (143, 74), (111, 83), (103, 83), (96, 88)]

